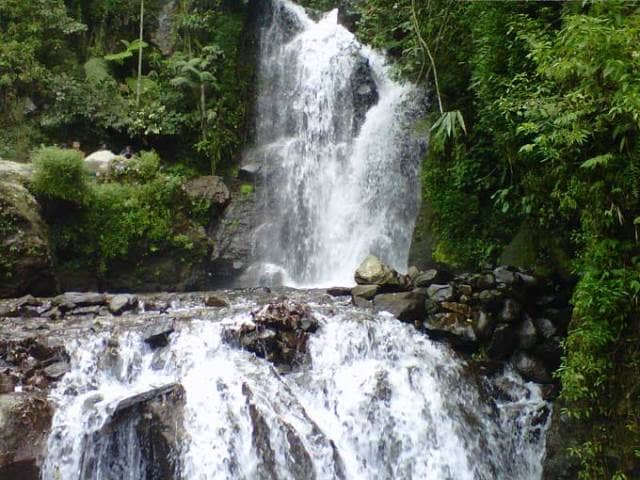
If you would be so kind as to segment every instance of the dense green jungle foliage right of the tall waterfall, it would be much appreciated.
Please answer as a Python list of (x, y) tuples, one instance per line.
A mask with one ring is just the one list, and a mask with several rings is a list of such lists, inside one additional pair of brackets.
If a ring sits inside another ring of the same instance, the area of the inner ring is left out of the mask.
[(575, 282), (559, 371), (580, 426), (571, 453), (582, 479), (638, 478), (640, 6), (306, 3), (346, 4), (360, 38), (433, 92), (422, 222), (435, 260)]

